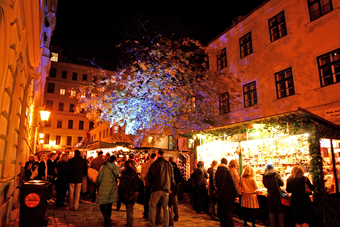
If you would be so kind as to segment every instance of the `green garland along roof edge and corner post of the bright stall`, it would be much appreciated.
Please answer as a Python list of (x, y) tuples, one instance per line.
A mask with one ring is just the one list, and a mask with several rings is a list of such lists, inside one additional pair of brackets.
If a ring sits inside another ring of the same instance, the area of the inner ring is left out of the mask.
[[(260, 130), (261, 138), (272, 138), (278, 131), (289, 135), (309, 134), (309, 154), (312, 157), (309, 167), (315, 186), (314, 205), (316, 214), (319, 218), (322, 218), (323, 226), (340, 226), (340, 202), (339, 199), (336, 198), (337, 195), (330, 195), (326, 192), (324, 185), (323, 158), (321, 157), (320, 151), (320, 139), (340, 139), (340, 130), (329, 124), (304, 117), (299, 113), (262, 119), (254, 121), (253, 123), (262, 125), (258, 128), (258, 130)], [(198, 133), (200, 134), (200, 138), (195, 140), (195, 148), (201, 142), (204, 144), (212, 140), (225, 140), (226, 136), (244, 134), (249, 131), (249, 123), (240, 126), (238, 125), (233, 128), (218, 128), (215, 130), (201, 131)], [(198, 140), (201, 140), (201, 142)]]

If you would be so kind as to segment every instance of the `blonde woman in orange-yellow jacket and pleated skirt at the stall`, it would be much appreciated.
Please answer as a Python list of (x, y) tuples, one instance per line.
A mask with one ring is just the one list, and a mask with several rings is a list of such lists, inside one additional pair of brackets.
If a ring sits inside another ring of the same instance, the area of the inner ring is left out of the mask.
[(252, 166), (247, 165), (241, 176), (241, 188), (242, 188), (242, 199), (241, 199), (241, 207), (244, 208), (243, 218), (244, 218), (244, 226), (248, 226), (247, 222), (247, 214), (251, 214), (252, 216), (252, 224), (255, 227), (255, 211), (254, 209), (258, 209), (258, 201), (256, 196), (256, 189), (258, 189), (258, 185), (255, 178), (255, 170)]

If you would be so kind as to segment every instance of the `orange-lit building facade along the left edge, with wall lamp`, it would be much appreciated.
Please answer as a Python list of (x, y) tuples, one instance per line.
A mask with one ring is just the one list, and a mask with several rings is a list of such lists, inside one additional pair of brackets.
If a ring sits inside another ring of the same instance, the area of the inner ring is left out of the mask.
[(57, 0), (0, 0), (0, 226), (17, 207), (50, 68)]

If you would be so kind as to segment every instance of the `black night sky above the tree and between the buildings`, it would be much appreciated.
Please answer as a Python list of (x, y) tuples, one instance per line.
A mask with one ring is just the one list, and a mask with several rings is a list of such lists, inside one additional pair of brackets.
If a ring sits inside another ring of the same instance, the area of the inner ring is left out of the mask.
[(161, 34), (172, 39), (187, 36), (207, 44), (233, 18), (247, 15), (264, 1), (59, 0), (51, 45), (59, 45), (64, 56), (73, 54), (119, 66), (122, 57), (117, 45), (124, 40)]

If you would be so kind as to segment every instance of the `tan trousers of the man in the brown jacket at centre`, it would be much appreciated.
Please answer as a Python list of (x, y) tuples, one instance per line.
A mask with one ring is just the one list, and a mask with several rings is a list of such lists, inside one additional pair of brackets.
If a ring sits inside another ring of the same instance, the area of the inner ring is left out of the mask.
[(156, 205), (158, 201), (161, 201), (163, 208), (163, 226), (169, 227), (169, 192), (156, 191), (151, 193), (150, 203), (149, 203), (149, 226), (155, 227), (156, 219)]

